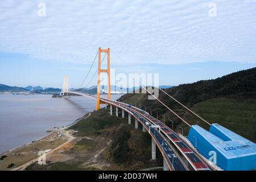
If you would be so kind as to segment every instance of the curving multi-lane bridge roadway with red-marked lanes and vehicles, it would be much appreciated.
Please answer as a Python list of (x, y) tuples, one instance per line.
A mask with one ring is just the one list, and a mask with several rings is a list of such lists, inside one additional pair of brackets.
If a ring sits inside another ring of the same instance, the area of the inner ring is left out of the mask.
[[(79, 94), (81, 96), (96, 98), (85, 93), (79, 92), (69, 92)], [(167, 162), (167, 165), (170, 169), (173, 170), (188, 170), (188, 167), (183, 162), (183, 160), (177, 155), (175, 149), (184, 156), (184, 158), (190, 164), (190, 170), (196, 171), (212, 171), (213, 167), (208, 164), (208, 162), (197, 153), (197, 151), (191, 147), (183, 138), (171, 130), (168, 126), (164, 125), (163, 122), (152, 117), (146, 111), (138, 109), (137, 107), (124, 104), (122, 102), (108, 100), (106, 98), (101, 98), (102, 102), (106, 104), (112, 104), (120, 109), (127, 111), (129, 114), (133, 115), (138, 121), (146, 128), (151, 137), (155, 140), (158, 148), (162, 152), (164, 159)], [(146, 125), (146, 122), (148, 125)], [(159, 129), (155, 129), (152, 126), (160, 126)], [(167, 139), (166, 139), (167, 138)], [(171, 144), (172, 143), (172, 144)], [(175, 149), (174, 147), (175, 146)]]

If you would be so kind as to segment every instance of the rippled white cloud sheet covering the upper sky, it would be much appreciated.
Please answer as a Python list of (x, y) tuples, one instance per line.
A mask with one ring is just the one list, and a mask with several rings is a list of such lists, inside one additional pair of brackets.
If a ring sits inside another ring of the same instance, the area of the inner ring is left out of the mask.
[(90, 64), (101, 46), (122, 57), (115, 64), (255, 63), (255, 9), (253, 0), (1, 0), (0, 51)]

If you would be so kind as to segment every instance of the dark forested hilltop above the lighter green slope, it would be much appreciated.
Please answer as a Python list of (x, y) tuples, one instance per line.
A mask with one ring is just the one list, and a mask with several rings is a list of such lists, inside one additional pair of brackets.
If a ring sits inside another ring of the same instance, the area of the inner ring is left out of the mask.
[(165, 91), (191, 106), (216, 97), (256, 99), (256, 68), (232, 73), (215, 80), (179, 85)]

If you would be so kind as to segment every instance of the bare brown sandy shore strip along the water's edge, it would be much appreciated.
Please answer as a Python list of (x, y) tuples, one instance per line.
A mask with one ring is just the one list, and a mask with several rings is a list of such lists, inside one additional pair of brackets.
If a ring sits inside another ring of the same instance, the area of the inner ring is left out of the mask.
[[(68, 125), (60, 127), (52, 127), (51, 129), (46, 129), (47, 134), (32, 142), (25, 143), (23, 145), (11, 148), (10, 150), (4, 151), (1, 156), (6, 155), (6, 158), (0, 160), (0, 171), (2, 170), (19, 170), (20, 167), (26, 164), (26, 167), (30, 164), (37, 162), (38, 152), (44, 151), (46, 155), (51, 154), (51, 152), (56, 151), (57, 148), (65, 148), (63, 145), (72, 144), (72, 140), (76, 139), (73, 137), (74, 130), (67, 130), (68, 127), (75, 125), (77, 122), (89, 117), (95, 110), (87, 111), (82, 117), (73, 120)], [(28, 165), (27, 163), (30, 162)], [(22, 168), (26, 169), (26, 168)]]

